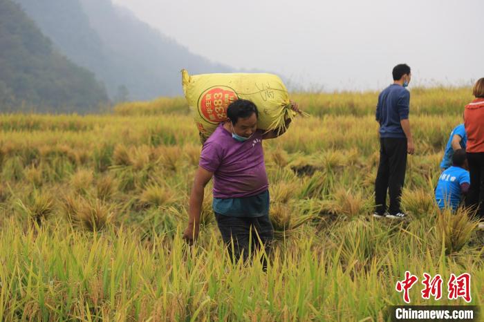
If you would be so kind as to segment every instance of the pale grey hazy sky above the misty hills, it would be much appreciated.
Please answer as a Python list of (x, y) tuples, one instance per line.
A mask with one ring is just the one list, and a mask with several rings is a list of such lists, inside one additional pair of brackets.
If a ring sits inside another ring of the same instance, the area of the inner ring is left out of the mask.
[(113, 3), (192, 53), (307, 88), (377, 89), (400, 62), (411, 66), (413, 85), (484, 77), (484, 0)]

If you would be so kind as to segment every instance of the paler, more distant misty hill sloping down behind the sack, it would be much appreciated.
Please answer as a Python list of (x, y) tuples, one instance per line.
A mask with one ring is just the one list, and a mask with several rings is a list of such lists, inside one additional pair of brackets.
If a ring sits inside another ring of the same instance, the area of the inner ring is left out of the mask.
[(181, 95), (180, 70), (227, 73), (110, 0), (15, 0), (55, 45), (104, 82), (113, 100)]

